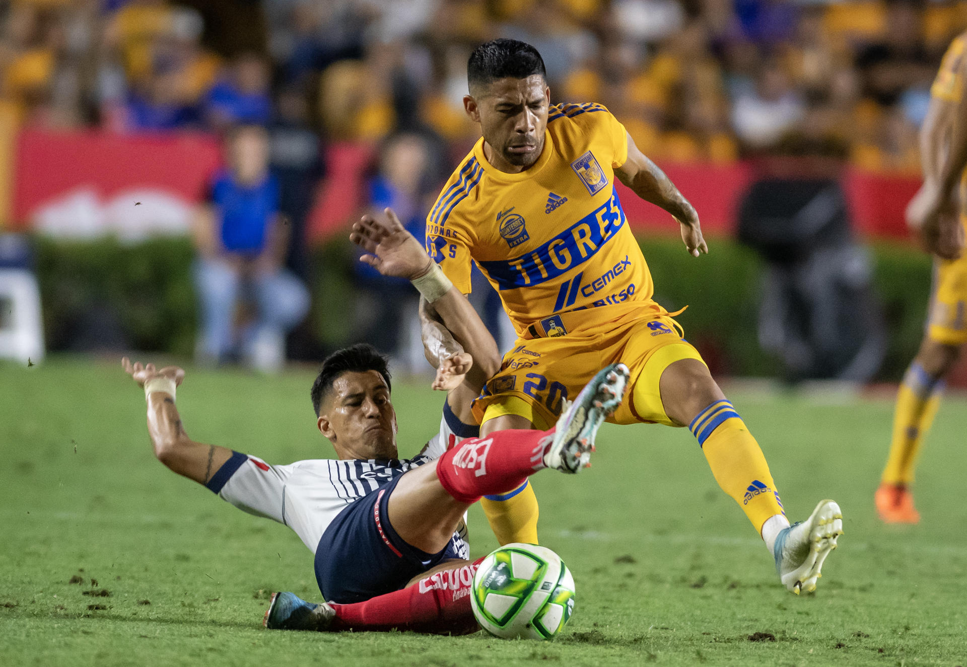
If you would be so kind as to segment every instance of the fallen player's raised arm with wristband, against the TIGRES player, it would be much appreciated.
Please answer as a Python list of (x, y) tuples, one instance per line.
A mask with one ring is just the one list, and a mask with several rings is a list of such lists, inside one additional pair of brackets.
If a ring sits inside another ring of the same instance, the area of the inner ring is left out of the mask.
[[(423, 245), (406, 231), (392, 209), (386, 209), (386, 216), (386, 220), (362, 217), (353, 224), (349, 239), (366, 250), (361, 261), (382, 275), (405, 277), (420, 289), (421, 283), (432, 278), (434, 271), (439, 269), (426, 256)], [(453, 334), (463, 351), (472, 357), (473, 364), (465, 371), (466, 381), (483, 388), (484, 383), (500, 368), (500, 354), (496, 341), (477, 311), (453, 285), (446, 290), (431, 289), (429, 296), (424, 296), (427, 304), (439, 316), (438, 321)], [(445, 335), (441, 336), (444, 342), (445, 338)], [(454, 363), (458, 361), (454, 360)], [(462, 370), (462, 367), (455, 370)]]

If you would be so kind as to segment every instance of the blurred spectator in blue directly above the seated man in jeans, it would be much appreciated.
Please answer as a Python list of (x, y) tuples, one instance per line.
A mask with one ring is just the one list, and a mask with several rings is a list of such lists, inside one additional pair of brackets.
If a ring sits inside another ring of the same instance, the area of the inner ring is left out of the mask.
[(265, 59), (256, 53), (237, 56), (228, 72), (208, 92), (205, 116), (209, 126), (217, 130), (238, 123), (268, 124), (272, 100)]

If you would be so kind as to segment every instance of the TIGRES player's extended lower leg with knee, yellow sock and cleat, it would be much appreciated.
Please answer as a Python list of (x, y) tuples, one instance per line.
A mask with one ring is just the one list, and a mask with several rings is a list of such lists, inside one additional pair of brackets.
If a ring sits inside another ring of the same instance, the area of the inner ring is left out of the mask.
[(704, 363), (685, 359), (669, 364), (659, 391), (665, 414), (689, 425), (718, 485), (765, 540), (782, 584), (795, 594), (815, 590), (823, 562), (842, 535), (839, 506), (822, 501), (805, 522), (789, 525), (762, 450)]

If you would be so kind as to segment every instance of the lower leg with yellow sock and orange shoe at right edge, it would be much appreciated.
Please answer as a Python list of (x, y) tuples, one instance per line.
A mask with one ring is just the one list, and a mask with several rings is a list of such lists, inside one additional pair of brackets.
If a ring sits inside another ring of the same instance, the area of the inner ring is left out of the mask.
[(874, 496), (876, 510), (887, 523), (920, 521), (910, 488), (917, 455), (940, 407), (944, 378), (956, 364), (961, 347), (924, 336), (917, 357), (900, 383), (890, 456)]

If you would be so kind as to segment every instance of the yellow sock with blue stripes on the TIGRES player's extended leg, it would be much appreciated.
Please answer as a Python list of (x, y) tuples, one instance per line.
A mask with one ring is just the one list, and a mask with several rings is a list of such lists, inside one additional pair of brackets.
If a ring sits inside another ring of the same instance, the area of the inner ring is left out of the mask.
[(785, 514), (766, 457), (727, 400), (716, 401), (691, 420), (718, 485), (746, 512), (756, 531), (770, 516)]

